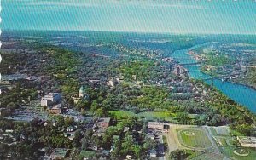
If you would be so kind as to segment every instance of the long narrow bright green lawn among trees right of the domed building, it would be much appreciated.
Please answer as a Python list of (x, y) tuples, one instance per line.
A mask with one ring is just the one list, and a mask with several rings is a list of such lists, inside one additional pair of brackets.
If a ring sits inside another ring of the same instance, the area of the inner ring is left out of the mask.
[(174, 115), (172, 115), (172, 113), (169, 111), (146, 111), (138, 114), (131, 111), (110, 111), (110, 114), (118, 119), (127, 117), (145, 117), (148, 120), (163, 119), (166, 121), (172, 121), (172, 117), (174, 117)]

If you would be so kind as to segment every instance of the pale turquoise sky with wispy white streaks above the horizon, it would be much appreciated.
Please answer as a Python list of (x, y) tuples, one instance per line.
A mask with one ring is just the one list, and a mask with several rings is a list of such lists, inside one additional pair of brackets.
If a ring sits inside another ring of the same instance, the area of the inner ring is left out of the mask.
[(2, 0), (4, 30), (256, 34), (256, 0)]

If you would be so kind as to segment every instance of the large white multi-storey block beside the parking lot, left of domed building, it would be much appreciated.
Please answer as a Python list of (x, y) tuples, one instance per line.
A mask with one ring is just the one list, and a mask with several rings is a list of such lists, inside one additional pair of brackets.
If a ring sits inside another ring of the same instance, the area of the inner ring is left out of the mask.
[(61, 94), (59, 93), (49, 93), (44, 95), (41, 99), (41, 106), (51, 106), (61, 102)]

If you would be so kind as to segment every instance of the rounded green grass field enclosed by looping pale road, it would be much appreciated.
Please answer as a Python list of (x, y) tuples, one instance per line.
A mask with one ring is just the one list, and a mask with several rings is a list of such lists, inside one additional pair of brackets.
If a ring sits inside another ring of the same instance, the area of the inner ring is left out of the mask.
[(207, 148), (212, 146), (207, 134), (202, 129), (177, 129), (178, 139), (183, 146)]

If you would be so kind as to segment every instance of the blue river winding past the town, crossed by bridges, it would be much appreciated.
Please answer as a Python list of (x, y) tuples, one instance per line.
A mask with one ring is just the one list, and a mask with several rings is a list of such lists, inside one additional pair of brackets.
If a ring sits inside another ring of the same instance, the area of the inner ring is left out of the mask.
[[(188, 52), (191, 49), (200, 48), (204, 45), (208, 45), (208, 43), (195, 45), (194, 47), (189, 49), (177, 50), (174, 53), (172, 53), (171, 56), (181, 64), (195, 63), (195, 59), (191, 57), (188, 54)], [(185, 67), (189, 71), (189, 77), (193, 77), (195, 79), (206, 79), (210, 77), (207, 74), (204, 74), (200, 71), (200, 66), (192, 65)], [(212, 80), (207, 80), (205, 82), (211, 84)], [(250, 111), (256, 113), (256, 90), (241, 84), (230, 83), (225, 81), (222, 82), (219, 79), (214, 79), (213, 85), (221, 92), (226, 94), (228, 97), (230, 97), (230, 99), (236, 101), (236, 103), (246, 106)]]

